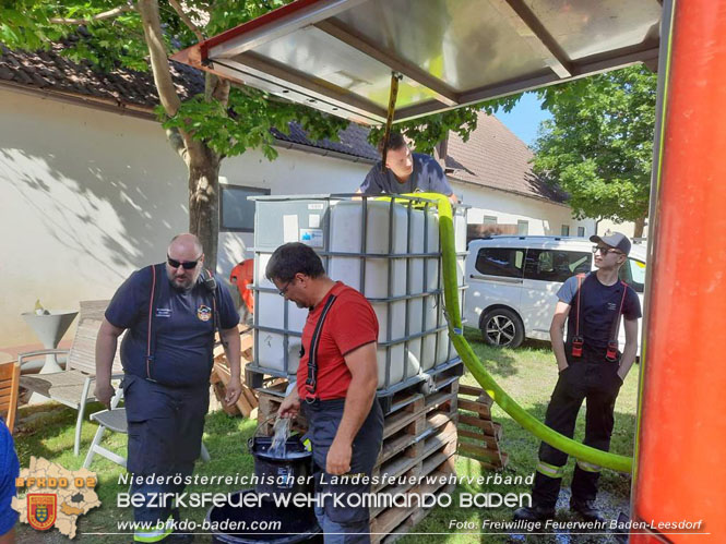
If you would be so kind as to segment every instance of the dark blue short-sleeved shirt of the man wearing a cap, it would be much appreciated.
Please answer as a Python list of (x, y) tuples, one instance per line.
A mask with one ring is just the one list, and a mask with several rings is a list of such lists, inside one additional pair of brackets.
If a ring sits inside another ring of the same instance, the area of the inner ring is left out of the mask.
[[(597, 274), (590, 273), (582, 280), (582, 293), (580, 295), (580, 336), (583, 337), (588, 348), (607, 349), (608, 342), (615, 334), (616, 316), (622, 301), (623, 285), (618, 281), (612, 286), (604, 286), (597, 279)], [(626, 319), (638, 319), (641, 317), (640, 299), (632, 287), (627, 288), (626, 299), (622, 301), (622, 315)], [(564, 303), (570, 304), (568, 315), (567, 344), (571, 346), (575, 336), (575, 324), (578, 322), (578, 277), (573, 276), (562, 283), (557, 297)], [(569, 353), (569, 350), (568, 350)]]

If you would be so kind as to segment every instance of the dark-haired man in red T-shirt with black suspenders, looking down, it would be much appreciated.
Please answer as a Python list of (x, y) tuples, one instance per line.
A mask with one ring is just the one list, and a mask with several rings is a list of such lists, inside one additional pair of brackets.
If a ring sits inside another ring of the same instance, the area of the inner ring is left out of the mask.
[(358, 291), (330, 279), (320, 257), (305, 244), (277, 247), (265, 275), (285, 299), (310, 309), (302, 329), (297, 388), (277, 414), (297, 414), (300, 399), (305, 400), (320, 471), (317, 492), (342, 497), (344, 506), (330, 498), (316, 508), (325, 543), (370, 542), (368, 508), (346, 505), (345, 496), (370, 493), (369, 481), (352, 476), (370, 477), (383, 439), (383, 413), (376, 400), (376, 313)]

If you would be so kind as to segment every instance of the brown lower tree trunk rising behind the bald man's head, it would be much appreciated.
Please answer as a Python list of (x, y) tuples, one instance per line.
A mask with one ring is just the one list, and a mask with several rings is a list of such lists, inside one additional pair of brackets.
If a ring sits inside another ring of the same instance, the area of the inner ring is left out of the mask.
[(189, 232), (197, 234), (204, 247), (204, 266), (217, 265), (219, 233), (219, 160), (204, 147), (204, 154), (189, 165)]

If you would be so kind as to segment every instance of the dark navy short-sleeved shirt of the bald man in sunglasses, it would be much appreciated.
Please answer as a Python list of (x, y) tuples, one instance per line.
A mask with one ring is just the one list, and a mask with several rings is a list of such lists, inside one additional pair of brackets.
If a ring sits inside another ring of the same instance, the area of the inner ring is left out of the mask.
[(201, 277), (188, 291), (171, 285), (164, 265), (156, 265), (156, 303), (152, 322), (154, 359), (146, 365), (152, 270), (133, 273), (116, 291), (106, 319), (129, 329), (121, 343), (124, 372), (167, 386), (192, 386), (210, 379), (214, 347), (214, 299), (222, 329), (236, 326), (239, 314), (229, 291), (217, 279), (213, 293)]

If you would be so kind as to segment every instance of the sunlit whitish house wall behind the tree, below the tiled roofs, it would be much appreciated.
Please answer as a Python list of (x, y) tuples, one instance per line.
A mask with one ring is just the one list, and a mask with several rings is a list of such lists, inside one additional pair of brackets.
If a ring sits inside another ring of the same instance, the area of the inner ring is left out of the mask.
[[(272, 194), (354, 192), (370, 165), (278, 148), (225, 159), (223, 183)], [(469, 222), (529, 221), (531, 234), (559, 234), (567, 207), (454, 183), (474, 206)], [(164, 258), (188, 228), (187, 170), (152, 121), (0, 89), (0, 348), (37, 342), (21, 318), (36, 299), (50, 310), (109, 299), (131, 271)], [(593, 230), (591, 222), (587, 233)], [(252, 245), (222, 232), (218, 271)], [(68, 336), (72, 333), (69, 331)]]

